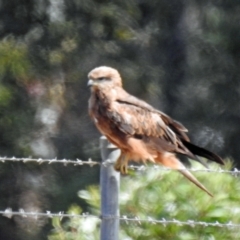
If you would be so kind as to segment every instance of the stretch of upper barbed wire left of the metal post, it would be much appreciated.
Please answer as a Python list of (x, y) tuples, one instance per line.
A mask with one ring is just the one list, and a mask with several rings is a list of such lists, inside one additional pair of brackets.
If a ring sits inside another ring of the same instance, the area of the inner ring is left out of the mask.
[(28, 163), (28, 162), (36, 162), (38, 164), (42, 164), (42, 163), (48, 163), (48, 164), (52, 164), (52, 163), (62, 163), (65, 166), (68, 164), (73, 164), (74, 166), (80, 166), (80, 165), (89, 165), (89, 166), (95, 166), (95, 165), (99, 165), (99, 162), (96, 161), (92, 161), (91, 158), (89, 158), (87, 161), (83, 161), (80, 159), (76, 159), (76, 160), (70, 160), (70, 159), (42, 159), (42, 158), (16, 158), (16, 157), (0, 157), (0, 162), (23, 162), (23, 163)]

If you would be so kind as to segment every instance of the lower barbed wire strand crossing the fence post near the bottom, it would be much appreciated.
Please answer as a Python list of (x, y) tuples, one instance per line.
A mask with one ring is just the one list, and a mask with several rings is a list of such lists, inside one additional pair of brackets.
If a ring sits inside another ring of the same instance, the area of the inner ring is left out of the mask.
[(203, 222), (203, 221), (194, 221), (194, 220), (187, 220), (187, 221), (180, 221), (177, 219), (172, 220), (166, 220), (165, 218), (162, 219), (153, 219), (151, 217), (147, 218), (139, 218), (139, 217), (128, 217), (126, 215), (123, 216), (96, 216), (91, 215), (89, 213), (82, 213), (82, 214), (74, 214), (74, 213), (64, 213), (64, 212), (58, 212), (58, 213), (51, 213), (50, 211), (47, 211), (46, 213), (41, 212), (25, 212), (24, 209), (19, 209), (19, 211), (12, 211), (11, 208), (7, 208), (4, 211), (0, 211), (0, 214), (7, 218), (12, 218), (13, 216), (22, 216), (24, 218), (31, 217), (38, 219), (40, 217), (46, 217), (46, 218), (54, 218), (58, 217), (60, 219), (64, 217), (68, 218), (98, 218), (99, 220), (109, 220), (109, 219), (118, 219), (120, 221), (125, 222), (126, 224), (129, 224), (131, 222), (135, 222), (137, 224), (142, 223), (150, 223), (150, 224), (161, 224), (163, 226), (167, 225), (177, 225), (177, 226), (191, 226), (191, 227), (197, 227), (197, 226), (203, 226), (203, 227), (226, 227), (226, 228), (239, 228), (240, 224), (232, 223), (231, 221), (227, 223), (219, 223), (219, 222)]

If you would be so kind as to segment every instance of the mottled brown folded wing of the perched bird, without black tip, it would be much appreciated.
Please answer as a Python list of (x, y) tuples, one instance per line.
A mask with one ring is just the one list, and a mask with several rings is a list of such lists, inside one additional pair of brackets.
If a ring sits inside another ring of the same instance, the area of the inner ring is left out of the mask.
[(122, 132), (132, 136), (161, 138), (173, 145), (179, 137), (189, 140), (187, 129), (180, 123), (121, 89), (105, 114)]

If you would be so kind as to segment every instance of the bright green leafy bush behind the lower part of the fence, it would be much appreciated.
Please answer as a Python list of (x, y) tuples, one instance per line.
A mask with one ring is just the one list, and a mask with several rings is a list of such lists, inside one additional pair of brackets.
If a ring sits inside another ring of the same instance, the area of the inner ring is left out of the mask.
[[(194, 164), (193, 167), (201, 168), (199, 164)], [(218, 169), (215, 164), (210, 165), (210, 168)], [(228, 162), (226, 169), (230, 168), (231, 164)], [(174, 171), (149, 169), (146, 172), (136, 172), (132, 176), (122, 177), (119, 199), (120, 215), (137, 216), (142, 219), (151, 217), (153, 219), (165, 218), (166, 220), (194, 220), (212, 223), (231, 221), (238, 224), (240, 222), (239, 178), (227, 173), (196, 172), (194, 175), (213, 193), (213, 198)], [(99, 215), (98, 186), (91, 186), (87, 190), (80, 191), (79, 196), (88, 202), (92, 214)], [(77, 212), (75, 211), (75, 213)], [(67, 235), (71, 233), (71, 227), (76, 229), (74, 232), (76, 237), (81, 236), (83, 229), (76, 228), (76, 226), (82, 226), (83, 221), (85, 220), (70, 218), (63, 224), (58, 222), (57, 227), (53, 222), (54, 234), (50, 234), (49, 239), (55, 240), (52, 238), (53, 236), (64, 240), (72, 239)], [(94, 221), (91, 222), (90, 219), (89, 224), (95, 228), (91, 229), (88, 238), (85, 239), (99, 239), (97, 237), (99, 236), (99, 225)], [(59, 228), (61, 232), (58, 231)], [(239, 236), (237, 228), (191, 227), (176, 224), (163, 226), (147, 222), (142, 222), (141, 225), (121, 222), (120, 229), (120, 239), (129, 240), (225, 240), (237, 239)], [(65, 238), (60, 238), (61, 234), (64, 234)]]

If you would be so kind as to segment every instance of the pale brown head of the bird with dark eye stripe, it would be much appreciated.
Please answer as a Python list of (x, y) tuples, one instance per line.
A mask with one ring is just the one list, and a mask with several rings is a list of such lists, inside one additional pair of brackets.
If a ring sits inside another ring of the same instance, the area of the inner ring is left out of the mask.
[(97, 67), (88, 74), (88, 86), (91, 88), (99, 87), (121, 87), (122, 79), (119, 72), (111, 67)]

